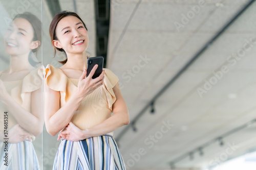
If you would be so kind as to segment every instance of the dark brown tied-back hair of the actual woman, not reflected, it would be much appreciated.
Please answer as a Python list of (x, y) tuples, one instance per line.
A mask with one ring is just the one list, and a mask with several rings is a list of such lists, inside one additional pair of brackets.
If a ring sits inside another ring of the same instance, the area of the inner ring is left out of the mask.
[[(50, 37), (51, 37), (51, 41), (52, 41), (52, 45), (54, 46), (53, 40), (58, 40), (57, 36), (56, 36), (56, 27), (58, 22), (62, 19), (65, 18), (67, 16), (75, 16), (77, 17), (83, 24), (84, 28), (86, 28), (86, 30), (88, 31), (86, 24), (82, 21), (82, 19), (75, 13), (75, 12), (69, 12), (69, 11), (61, 11), (59, 13), (57, 13), (53, 19), (52, 22), (50, 24), (50, 28), (49, 28), (49, 33), (50, 33)], [(56, 49), (60, 52), (64, 52), (66, 54), (66, 52), (62, 49), (62, 48), (57, 48), (56, 46), (54, 46), (54, 56), (56, 55)], [(87, 57), (88, 58), (88, 57)], [(65, 64), (68, 61), (68, 58), (64, 61), (59, 61), (61, 64)]]

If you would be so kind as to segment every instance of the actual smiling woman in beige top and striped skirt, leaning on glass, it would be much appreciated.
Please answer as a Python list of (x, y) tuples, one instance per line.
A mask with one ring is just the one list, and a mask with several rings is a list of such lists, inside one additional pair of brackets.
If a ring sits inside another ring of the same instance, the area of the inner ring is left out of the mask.
[(118, 78), (104, 68), (92, 79), (97, 65), (86, 77), (88, 32), (76, 13), (56, 14), (50, 36), (67, 55), (60, 68), (46, 67), (46, 128), (51, 135), (62, 130), (53, 169), (125, 169), (113, 139), (114, 130), (129, 124)]

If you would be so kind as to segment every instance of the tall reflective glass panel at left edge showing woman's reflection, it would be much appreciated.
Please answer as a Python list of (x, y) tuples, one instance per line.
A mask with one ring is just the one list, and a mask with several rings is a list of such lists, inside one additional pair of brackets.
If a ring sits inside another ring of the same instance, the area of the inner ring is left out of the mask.
[(0, 11), (0, 169), (42, 169), (42, 3)]

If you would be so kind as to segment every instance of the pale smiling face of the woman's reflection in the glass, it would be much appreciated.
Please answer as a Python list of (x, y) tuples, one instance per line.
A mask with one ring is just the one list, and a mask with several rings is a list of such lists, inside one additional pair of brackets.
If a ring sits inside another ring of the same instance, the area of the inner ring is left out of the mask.
[(24, 18), (16, 18), (5, 34), (5, 49), (10, 55), (24, 55), (32, 50), (34, 30)]

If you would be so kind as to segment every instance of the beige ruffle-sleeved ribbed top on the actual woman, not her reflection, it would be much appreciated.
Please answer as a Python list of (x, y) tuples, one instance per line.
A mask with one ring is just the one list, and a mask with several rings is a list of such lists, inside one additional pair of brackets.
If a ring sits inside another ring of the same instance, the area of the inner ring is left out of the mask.
[[(118, 78), (111, 70), (103, 69), (103, 85), (82, 100), (71, 119), (71, 122), (81, 130), (99, 125), (112, 115), (112, 105), (116, 101), (113, 87), (117, 84)], [(76, 90), (79, 80), (68, 78), (61, 69), (50, 64), (47, 65), (45, 74), (46, 85), (60, 92), (60, 107), (64, 106)]]

